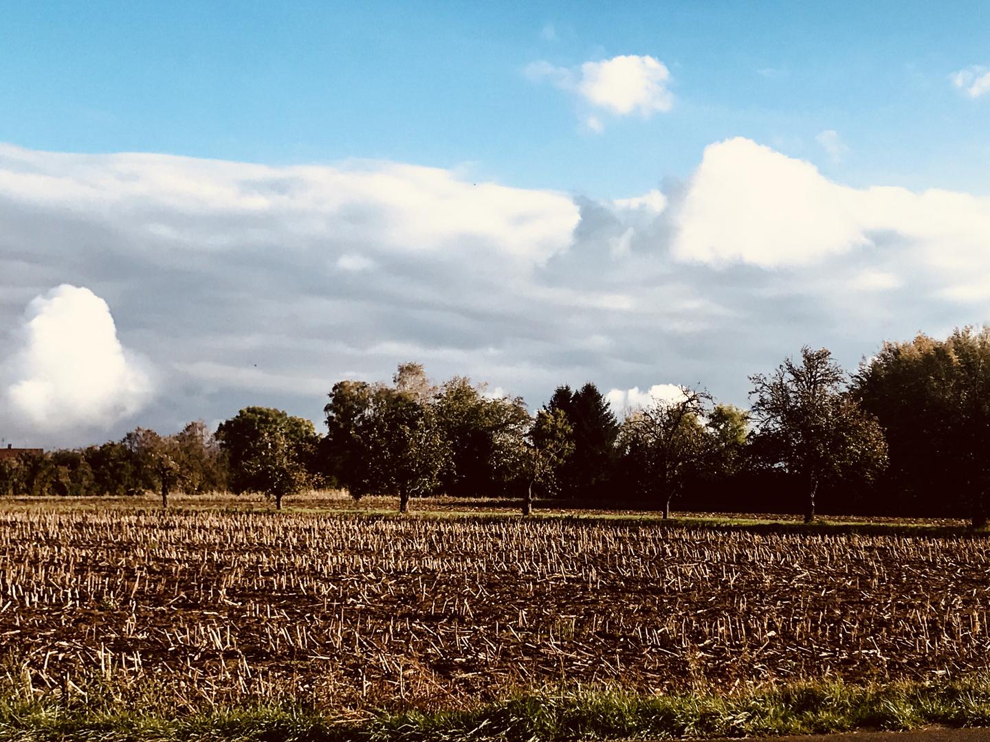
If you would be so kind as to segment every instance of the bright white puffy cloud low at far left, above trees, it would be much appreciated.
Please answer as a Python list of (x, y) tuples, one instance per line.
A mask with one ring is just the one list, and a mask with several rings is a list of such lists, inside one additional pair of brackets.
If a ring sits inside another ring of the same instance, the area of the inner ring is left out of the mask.
[(106, 427), (148, 402), (142, 364), (117, 339), (107, 303), (63, 284), (28, 306), (7, 389), (12, 411), (42, 430)]

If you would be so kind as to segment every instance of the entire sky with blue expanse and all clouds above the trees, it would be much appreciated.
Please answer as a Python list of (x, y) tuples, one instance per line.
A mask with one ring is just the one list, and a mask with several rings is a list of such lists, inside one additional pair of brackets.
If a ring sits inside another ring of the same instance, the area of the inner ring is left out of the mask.
[(0, 20), (5, 439), (319, 421), (407, 360), (745, 406), (803, 343), (990, 321), (986, 3)]

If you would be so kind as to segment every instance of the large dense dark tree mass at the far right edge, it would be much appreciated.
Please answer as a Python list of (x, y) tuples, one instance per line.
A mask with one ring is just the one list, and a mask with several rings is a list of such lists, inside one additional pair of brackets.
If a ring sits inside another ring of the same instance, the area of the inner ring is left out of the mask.
[(860, 364), (853, 392), (879, 418), (891, 483), (919, 499), (938, 493), (987, 522), (990, 491), (990, 326), (886, 342)]

